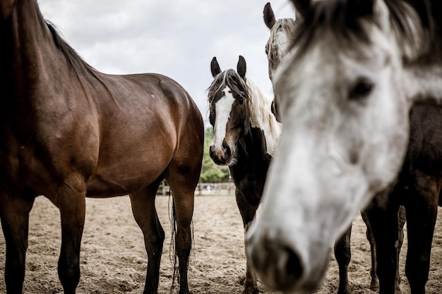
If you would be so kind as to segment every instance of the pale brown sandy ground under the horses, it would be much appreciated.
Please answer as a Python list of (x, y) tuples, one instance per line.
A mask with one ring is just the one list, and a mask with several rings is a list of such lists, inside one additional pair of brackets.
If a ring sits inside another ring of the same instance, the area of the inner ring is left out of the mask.
[[(157, 197), (157, 210), (167, 239), (162, 256), (159, 293), (169, 293), (172, 265), (169, 259), (169, 198)], [(196, 197), (193, 217), (194, 245), (189, 272), (192, 293), (241, 293), (245, 273), (244, 233), (233, 196)], [(350, 287), (355, 294), (371, 294), (370, 249), (360, 216), (352, 232)], [(438, 218), (426, 293), (442, 292), (442, 226)], [(400, 258), (402, 293), (410, 293), (404, 275), (406, 241)], [(24, 293), (62, 293), (56, 272), (60, 247), (59, 212), (44, 197), (37, 198), (30, 216), (30, 236)], [(0, 293), (4, 285), (4, 238), (0, 237)], [(79, 294), (142, 293), (146, 254), (141, 230), (131, 214), (129, 197), (88, 199), (80, 259)], [(263, 293), (266, 290), (260, 283)], [(316, 293), (336, 293), (338, 267), (334, 257), (324, 285)], [(177, 293), (177, 286), (172, 293)]]

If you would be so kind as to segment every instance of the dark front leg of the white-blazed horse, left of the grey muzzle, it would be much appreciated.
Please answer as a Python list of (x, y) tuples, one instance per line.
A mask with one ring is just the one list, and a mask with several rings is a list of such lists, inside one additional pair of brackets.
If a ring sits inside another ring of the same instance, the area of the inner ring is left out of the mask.
[[(258, 209), (259, 204), (251, 204), (246, 197), (235, 189), (235, 196), (237, 198), (237, 204), (239, 208), (239, 213), (241, 214), (242, 223), (244, 226), (244, 234), (249, 229), (251, 221), (256, 214), (256, 209)], [(245, 245), (245, 243), (244, 243)], [(244, 281), (243, 294), (256, 294), (259, 293), (258, 286), (256, 284), (256, 275), (251, 267), (251, 262), (246, 259), (246, 279)]]

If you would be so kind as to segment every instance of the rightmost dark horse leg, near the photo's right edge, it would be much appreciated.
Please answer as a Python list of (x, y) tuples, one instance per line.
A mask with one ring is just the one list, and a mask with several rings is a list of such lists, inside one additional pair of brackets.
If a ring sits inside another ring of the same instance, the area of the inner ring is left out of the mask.
[(412, 294), (425, 293), (438, 208), (439, 187), (426, 178), (429, 177), (424, 175), (416, 180), (419, 191), (410, 191), (410, 200), (405, 207), (408, 235), (405, 274)]

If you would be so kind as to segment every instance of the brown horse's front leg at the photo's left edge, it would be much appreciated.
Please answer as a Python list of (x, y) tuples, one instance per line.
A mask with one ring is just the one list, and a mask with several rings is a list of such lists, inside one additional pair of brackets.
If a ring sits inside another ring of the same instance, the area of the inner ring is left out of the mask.
[(0, 193), (0, 217), (6, 241), (6, 293), (22, 293), (28, 248), (29, 212), (34, 197)]

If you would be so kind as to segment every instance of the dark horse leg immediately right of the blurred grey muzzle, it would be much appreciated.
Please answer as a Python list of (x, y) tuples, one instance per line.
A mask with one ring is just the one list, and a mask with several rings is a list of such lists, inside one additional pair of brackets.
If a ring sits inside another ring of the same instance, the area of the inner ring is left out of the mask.
[(335, 242), (335, 258), (339, 267), (339, 288), (338, 294), (350, 294), (348, 283), (348, 264), (352, 258), (350, 238), (352, 236), (352, 225), (345, 231), (344, 235)]

